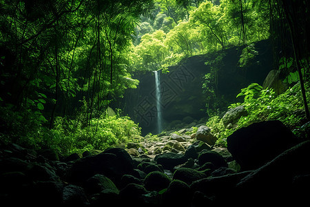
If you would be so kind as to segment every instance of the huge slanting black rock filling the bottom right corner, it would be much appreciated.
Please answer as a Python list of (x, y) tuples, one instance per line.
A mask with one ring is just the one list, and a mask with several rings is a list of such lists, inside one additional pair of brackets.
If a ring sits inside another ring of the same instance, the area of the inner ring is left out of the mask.
[[(253, 201), (260, 201), (261, 204), (295, 203), (298, 199), (306, 201), (302, 206), (309, 204), (309, 199), (300, 198), (296, 195), (296, 177), (298, 175), (310, 175), (310, 141), (285, 150), (282, 154), (269, 161), (264, 166), (254, 170), (247, 177), (241, 179), (234, 191), (236, 195), (242, 196), (245, 203), (254, 204)], [(304, 179), (307, 184), (307, 179)], [(309, 181), (308, 181), (309, 183)], [(298, 186), (298, 185), (297, 185)], [(300, 188), (306, 195), (309, 195), (309, 186)]]

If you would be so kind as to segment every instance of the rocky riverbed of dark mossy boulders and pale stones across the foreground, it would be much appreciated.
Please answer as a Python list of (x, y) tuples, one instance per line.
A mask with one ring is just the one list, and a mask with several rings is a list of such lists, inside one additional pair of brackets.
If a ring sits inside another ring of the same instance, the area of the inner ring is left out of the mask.
[(310, 141), (264, 121), (215, 148), (207, 126), (59, 158), (1, 144), (1, 206), (258, 206), (310, 203)]

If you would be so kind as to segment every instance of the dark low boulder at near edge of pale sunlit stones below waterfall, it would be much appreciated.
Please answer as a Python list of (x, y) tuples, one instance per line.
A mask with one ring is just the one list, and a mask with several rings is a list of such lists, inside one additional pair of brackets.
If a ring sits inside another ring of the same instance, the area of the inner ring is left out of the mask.
[(155, 161), (157, 161), (157, 164), (161, 164), (163, 168), (172, 170), (174, 166), (185, 163), (187, 159), (184, 155), (167, 152), (165, 154), (156, 155)]

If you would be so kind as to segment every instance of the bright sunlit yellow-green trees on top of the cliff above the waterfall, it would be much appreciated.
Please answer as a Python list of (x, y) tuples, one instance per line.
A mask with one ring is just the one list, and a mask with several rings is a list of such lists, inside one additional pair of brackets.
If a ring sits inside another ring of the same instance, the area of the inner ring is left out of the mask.
[[(269, 38), (269, 12), (267, 4), (256, 1), (242, 1), (242, 7), (243, 21), (240, 19), (240, 6), (234, 1), (220, 1), (215, 5), (211, 1), (156, 0), (154, 21), (145, 19), (153, 31), (141, 33), (148, 35), (149, 43), (141, 41), (132, 47), (131, 56), (138, 60), (132, 61), (132, 68), (158, 70), (172, 66), (185, 57), (240, 45), (245, 48), (240, 55), (239, 65), (247, 65), (257, 55), (253, 43)], [(244, 28), (244, 31), (240, 28)], [(161, 44), (152, 34), (156, 30), (165, 32)], [(168, 52), (159, 50), (161, 57), (156, 57), (152, 41)], [(147, 48), (141, 50), (145, 46)]]

